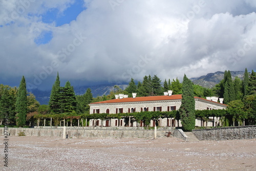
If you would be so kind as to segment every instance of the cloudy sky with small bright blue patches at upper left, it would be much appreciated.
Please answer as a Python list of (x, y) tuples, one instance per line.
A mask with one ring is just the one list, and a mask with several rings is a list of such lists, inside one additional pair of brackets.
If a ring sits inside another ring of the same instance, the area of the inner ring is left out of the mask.
[(254, 0), (0, 2), (0, 84), (50, 89), (250, 71)]

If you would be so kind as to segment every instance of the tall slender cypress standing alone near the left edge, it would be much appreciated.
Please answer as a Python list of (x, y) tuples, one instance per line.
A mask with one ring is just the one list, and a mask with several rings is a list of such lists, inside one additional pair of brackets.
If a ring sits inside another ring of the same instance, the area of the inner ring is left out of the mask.
[(18, 95), (16, 100), (16, 125), (23, 127), (26, 125), (27, 116), (27, 88), (25, 77), (22, 77), (18, 88)]

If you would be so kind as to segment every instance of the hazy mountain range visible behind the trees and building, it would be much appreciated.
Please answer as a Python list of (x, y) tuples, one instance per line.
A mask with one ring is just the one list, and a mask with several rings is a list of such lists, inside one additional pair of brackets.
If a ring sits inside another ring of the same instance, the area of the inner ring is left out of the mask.
[[(232, 79), (239, 77), (243, 79), (244, 71), (230, 71)], [(205, 76), (198, 78), (191, 78), (190, 80), (194, 84), (201, 85), (203, 87), (212, 88), (224, 78), (224, 72), (217, 71), (214, 73), (209, 73)], [(82, 95), (86, 92), (87, 88), (90, 88), (93, 94), (93, 97), (108, 95), (110, 91), (114, 89), (114, 86), (118, 85), (121, 89), (125, 89), (128, 84), (104, 84), (104, 85), (94, 85), (94, 86), (79, 86), (74, 87), (76, 95)], [(32, 93), (36, 96), (36, 100), (41, 104), (48, 104), (50, 99), (51, 90), (41, 91), (38, 89), (32, 89)]]

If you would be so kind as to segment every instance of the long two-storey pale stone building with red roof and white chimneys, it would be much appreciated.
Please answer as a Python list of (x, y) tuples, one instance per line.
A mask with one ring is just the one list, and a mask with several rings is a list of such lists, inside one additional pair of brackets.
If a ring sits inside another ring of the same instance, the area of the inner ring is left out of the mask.
[[(172, 95), (172, 91), (164, 92), (164, 95), (159, 96), (145, 96), (136, 97), (136, 93), (133, 93), (133, 97), (127, 97), (125, 94), (117, 94), (116, 99), (95, 102), (90, 105), (90, 114), (92, 113), (133, 113), (140, 111), (172, 111), (178, 110), (181, 106), (182, 94)], [(218, 103), (218, 97), (207, 97), (202, 99), (200, 97), (194, 97), (196, 110), (213, 110), (213, 109), (225, 109), (227, 105), (222, 104), (223, 99), (220, 98)], [(181, 126), (174, 118), (163, 117), (159, 120), (161, 127), (177, 127)], [(94, 120), (90, 120), (89, 126), (93, 126)], [(201, 118), (196, 119), (196, 126), (206, 126), (205, 121)], [(216, 126), (219, 124), (219, 118), (211, 117), (208, 120), (207, 126)], [(96, 126), (101, 126), (101, 121), (96, 120)], [(137, 123), (133, 117), (123, 117), (122, 119), (105, 119), (103, 120), (104, 127), (137, 127), (144, 126), (142, 121)], [(155, 121), (151, 121), (151, 126), (155, 126)]]

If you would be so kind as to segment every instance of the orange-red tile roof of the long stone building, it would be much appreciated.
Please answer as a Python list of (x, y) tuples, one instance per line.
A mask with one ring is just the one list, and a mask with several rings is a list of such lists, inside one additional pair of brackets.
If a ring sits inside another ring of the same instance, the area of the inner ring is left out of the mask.
[[(202, 99), (200, 97), (195, 96), (195, 99)], [(91, 104), (105, 104), (105, 103), (125, 103), (125, 102), (144, 102), (144, 101), (164, 101), (164, 100), (181, 100), (182, 99), (182, 94), (175, 94), (175, 95), (158, 95), (158, 96), (145, 96), (145, 97), (128, 97), (128, 98), (123, 98), (123, 99), (113, 99), (113, 100), (108, 100), (108, 101), (102, 101), (102, 102), (95, 102)], [(206, 99), (202, 99), (205, 101), (209, 101)], [(209, 101), (213, 102), (213, 101)], [(214, 102), (218, 103), (218, 102)], [(218, 103), (221, 104), (221, 103)], [(224, 105), (224, 104), (222, 104)], [(226, 106), (226, 105), (225, 105)]]

